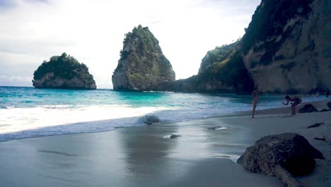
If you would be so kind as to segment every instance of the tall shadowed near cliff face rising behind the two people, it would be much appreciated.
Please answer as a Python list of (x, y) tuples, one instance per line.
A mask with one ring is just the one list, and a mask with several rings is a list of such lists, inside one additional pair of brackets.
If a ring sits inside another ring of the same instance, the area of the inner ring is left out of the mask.
[(263, 92), (331, 89), (331, 2), (263, 0), (242, 40), (245, 67)]

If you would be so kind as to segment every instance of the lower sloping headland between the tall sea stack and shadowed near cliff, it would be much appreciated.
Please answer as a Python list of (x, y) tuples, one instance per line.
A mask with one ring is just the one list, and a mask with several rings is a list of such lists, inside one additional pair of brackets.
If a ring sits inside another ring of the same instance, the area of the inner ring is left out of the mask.
[(254, 86), (238, 51), (239, 41), (207, 52), (199, 74), (175, 81), (163, 90), (247, 93)]

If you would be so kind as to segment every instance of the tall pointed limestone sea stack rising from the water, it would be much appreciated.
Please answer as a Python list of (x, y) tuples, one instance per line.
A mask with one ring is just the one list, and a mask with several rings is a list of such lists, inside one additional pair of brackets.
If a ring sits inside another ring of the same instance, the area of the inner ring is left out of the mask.
[(134, 28), (125, 35), (120, 60), (112, 74), (116, 91), (156, 91), (175, 81), (175, 72), (149, 28)]

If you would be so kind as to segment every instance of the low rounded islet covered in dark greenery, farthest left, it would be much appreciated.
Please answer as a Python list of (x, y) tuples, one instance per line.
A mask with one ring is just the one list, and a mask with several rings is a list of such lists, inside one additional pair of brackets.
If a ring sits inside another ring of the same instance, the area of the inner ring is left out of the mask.
[(65, 52), (42, 62), (33, 74), (33, 86), (36, 89), (96, 89), (86, 64)]

